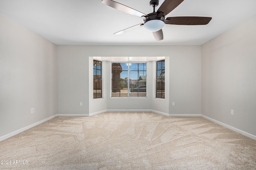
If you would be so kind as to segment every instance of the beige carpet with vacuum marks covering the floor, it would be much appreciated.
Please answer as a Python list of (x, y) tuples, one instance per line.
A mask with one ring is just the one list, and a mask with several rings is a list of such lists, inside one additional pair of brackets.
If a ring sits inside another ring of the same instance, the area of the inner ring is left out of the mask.
[(106, 112), (56, 117), (1, 141), (0, 160), (17, 170), (255, 170), (256, 141), (202, 117)]

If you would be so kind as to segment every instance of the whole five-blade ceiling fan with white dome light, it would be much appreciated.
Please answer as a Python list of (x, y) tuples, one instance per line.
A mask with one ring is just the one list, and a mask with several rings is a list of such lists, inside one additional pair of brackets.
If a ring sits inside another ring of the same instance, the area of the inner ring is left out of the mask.
[(133, 8), (115, 2), (113, 0), (102, 0), (103, 4), (106, 4), (112, 8), (120, 10), (122, 12), (126, 12), (128, 14), (141, 17), (144, 20), (144, 23), (140, 23), (138, 25), (134, 25), (132, 27), (123, 29), (122, 31), (118, 31), (114, 33), (115, 35), (119, 35), (122, 33), (126, 33), (138, 27), (144, 26), (148, 31), (151, 31), (154, 35), (156, 41), (160, 41), (164, 39), (162, 27), (164, 24), (172, 24), (172, 25), (206, 25), (212, 19), (211, 17), (198, 17), (198, 16), (179, 16), (179, 17), (168, 17), (165, 18), (167, 14), (172, 12), (180, 3), (184, 0), (164, 0), (162, 5), (155, 12), (155, 8), (159, 4), (159, 0), (150, 0), (150, 6), (153, 7), (153, 12), (150, 14), (143, 14)]

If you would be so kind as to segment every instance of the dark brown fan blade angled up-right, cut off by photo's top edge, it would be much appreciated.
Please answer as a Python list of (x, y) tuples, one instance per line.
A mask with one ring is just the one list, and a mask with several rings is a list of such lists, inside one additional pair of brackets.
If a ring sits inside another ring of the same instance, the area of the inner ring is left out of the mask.
[(162, 5), (158, 8), (156, 13), (164, 12), (164, 15), (166, 16), (169, 14), (172, 10), (174, 10), (177, 6), (180, 5), (181, 2), (184, 0), (164, 0)]

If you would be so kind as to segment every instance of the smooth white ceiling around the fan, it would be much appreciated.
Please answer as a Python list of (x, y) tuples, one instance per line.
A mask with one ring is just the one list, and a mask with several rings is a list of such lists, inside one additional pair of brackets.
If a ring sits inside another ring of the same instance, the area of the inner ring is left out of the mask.
[[(115, 1), (144, 14), (153, 12), (150, 0)], [(165, 25), (162, 41), (155, 41), (144, 27), (113, 35), (143, 20), (101, 0), (0, 0), (0, 13), (57, 45), (202, 45), (255, 16), (256, 0), (184, 0), (166, 18), (207, 16), (212, 20), (208, 25)]]

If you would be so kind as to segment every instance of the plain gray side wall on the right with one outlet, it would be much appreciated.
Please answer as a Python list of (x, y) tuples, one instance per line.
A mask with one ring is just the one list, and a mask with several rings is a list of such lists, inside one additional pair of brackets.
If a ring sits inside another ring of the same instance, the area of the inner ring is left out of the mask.
[(202, 115), (252, 135), (256, 135), (255, 30), (256, 16), (202, 45)]

